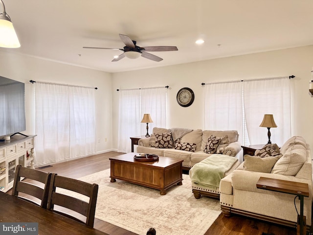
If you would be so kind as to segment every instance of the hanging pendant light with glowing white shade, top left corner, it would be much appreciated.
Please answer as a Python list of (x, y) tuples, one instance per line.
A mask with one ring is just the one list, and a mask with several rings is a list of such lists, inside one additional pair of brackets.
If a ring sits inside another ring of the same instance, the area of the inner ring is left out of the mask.
[(21, 47), (11, 19), (5, 12), (5, 7), (2, 0), (0, 0), (0, 6), (2, 8), (0, 12), (0, 47)]

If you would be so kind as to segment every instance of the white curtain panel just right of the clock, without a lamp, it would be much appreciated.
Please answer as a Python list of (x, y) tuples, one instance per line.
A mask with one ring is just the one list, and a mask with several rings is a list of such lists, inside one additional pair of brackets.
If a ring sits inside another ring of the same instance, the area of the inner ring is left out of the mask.
[(237, 130), (243, 141), (241, 82), (212, 83), (204, 87), (204, 129)]

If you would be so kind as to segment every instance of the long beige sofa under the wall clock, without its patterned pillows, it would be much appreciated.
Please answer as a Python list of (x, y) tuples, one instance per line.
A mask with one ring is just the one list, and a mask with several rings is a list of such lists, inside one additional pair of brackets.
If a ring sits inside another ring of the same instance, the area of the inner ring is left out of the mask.
[[(173, 144), (171, 148), (156, 148), (156, 134), (171, 133)], [(189, 170), (194, 164), (206, 159), (210, 154), (203, 151), (207, 144), (208, 138), (213, 135), (216, 137), (224, 137), (227, 135), (229, 144), (220, 149), (222, 154), (229, 156), (237, 156), (241, 150), (241, 145), (238, 142), (237, 131), (210, 131), (201, 129), (191, 130), (185, 128), (153, 128), (153, 134), (149, 138), (140, 139), (136, 149), (137, 153), (156, 154), (158, 156), (182, 159), (183, 169)], [(176, 143), (191, 143), (194, 144), (194, 151), (185, 151), (176, 149)]]

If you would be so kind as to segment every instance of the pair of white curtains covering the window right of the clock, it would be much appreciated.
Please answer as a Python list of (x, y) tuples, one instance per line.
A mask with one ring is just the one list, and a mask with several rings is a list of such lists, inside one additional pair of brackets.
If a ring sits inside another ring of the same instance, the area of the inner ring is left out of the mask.
[(267, 143), (264, 114), (273, 114), (277, 128), (271, 141), (283, 144), (291, 137), (291, 81), (288, 77), (205, 85), (204, 128), (237, 130), (244, 144)]

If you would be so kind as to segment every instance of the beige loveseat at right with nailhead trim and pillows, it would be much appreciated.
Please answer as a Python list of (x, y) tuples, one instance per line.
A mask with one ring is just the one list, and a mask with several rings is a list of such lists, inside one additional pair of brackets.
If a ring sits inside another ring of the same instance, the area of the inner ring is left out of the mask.
[[(259, 189), (256, 184), (260, 177), (306, 183), (310, 195), (304, 198), (304, 215), (307, 229), (312, 232), (312, 157), (309, 144), (304, 138), (294, 136), (278, 150), (271, 149), (270, 152), (267, 149), (265, 146), (263, 151), (257, 153), (257, 150), (255, 156), (245, 155), (244, 162), (221, 180), (223, 214), (242, 214), (296, 227), (300, 200), (292, 194)], [(268, 154), (264, 155), (265, 152)]]

